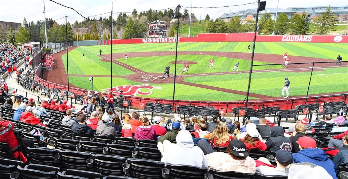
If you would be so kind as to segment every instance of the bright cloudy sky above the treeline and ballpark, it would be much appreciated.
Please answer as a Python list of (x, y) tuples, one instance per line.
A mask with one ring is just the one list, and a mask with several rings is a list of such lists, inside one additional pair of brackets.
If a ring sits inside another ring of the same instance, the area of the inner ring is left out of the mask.
[[(54, 0), (62, 5), (74, 8), (85, 17), (94, 15), (97, 19), (100, 16), (109, 17), (111, 10), (113, 10), (113, 18), (116, 19), (119, 12), (132, 12), (135, 8), (138, 12), (152, 10), (160, 10), (173, 8), (180, 4), (182, 6), (181, 12), (185, 7), (191, 10), (190, 0)], [(256, 3), (253, 3), (256, 2)], [(266, 1), (266, 8), (276, 8), (278, 0)], [(242, 5), (252, 3), (249, 5)], [(113, 5), (113, 6), (111, 6)], [(233, 7), (222, 7), (242, 5)], [(279, 8), (286, 9), (288, 7), (307, 7), (307, 6), (348, 6), (348, 0), (279, 0)], [(44, 19), (44, 0), (0, 0), (0, 21), (22, 23), (25, 17), (27, 21), (37, 21)], [(192, 0), (192, 13), (196, 18), (204, 19), (207, 14), (210, 18), (219, 18), (223, 13), (231, 11), (246, 10), (248, 8), (257, 8), (256, 0)], [(194, 8), (194, 7), (220, 7), (220, 8)], [(56, 20), (58, 24), (65, 23), (65, 16), (68, 21), (74, 23), (75, 20), (79, 22), (83, 20), (79, 14), (72, 9), (58, 5), (52, 1), (45, 0), (46, 18)], [(81, 12), (82, 11), (82, 12)], [(163, 11), (163, 10), (162, 10)], [(99, 15), (104, 14), (105, 15)], [(130, 13), (128, 13), (130, 14)], [(73, 18), (80, 17), (80, 18)], [(60, 19), (61, 18), (61, 19)], [(92, 17), (93, 18), (93, 17)]]

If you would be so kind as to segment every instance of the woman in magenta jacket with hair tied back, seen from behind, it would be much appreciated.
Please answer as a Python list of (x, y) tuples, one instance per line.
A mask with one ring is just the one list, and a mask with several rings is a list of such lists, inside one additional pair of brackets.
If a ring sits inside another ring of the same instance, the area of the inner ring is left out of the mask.
[(141, 122), (142, 122), (142, 125), (135, 129), (134, 138), (157, 140), (155, 129), (149, 126), (149, 123), (150, 123), (149, 119), (147, 117), (144, 117)]

